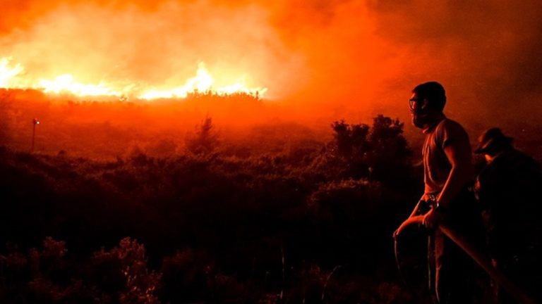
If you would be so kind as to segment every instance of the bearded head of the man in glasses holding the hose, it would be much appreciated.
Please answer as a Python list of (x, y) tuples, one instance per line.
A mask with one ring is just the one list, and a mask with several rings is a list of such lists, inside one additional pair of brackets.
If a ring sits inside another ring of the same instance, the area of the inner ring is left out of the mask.
[(418, 84), (412, 90), (409, 100), (412, 123), (416, 127), (423, 128), (433, 119), (434, 115), (440, 115), (446, 104), (446, 91), (438, 82), (425, 82)]

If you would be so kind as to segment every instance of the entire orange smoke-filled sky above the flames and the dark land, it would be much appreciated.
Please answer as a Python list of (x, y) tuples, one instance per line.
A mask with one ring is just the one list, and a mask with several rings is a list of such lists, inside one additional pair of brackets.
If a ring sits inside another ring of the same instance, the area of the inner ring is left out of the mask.
[(437, 80), (472, 132), (540, 127), (536, 0), (3, 2), (1, 54), (29, 74), (160, 87), (203, 61), (217, 82), (248, 77), (291, 118), (325, 125), (408, 120), (412, 87)]

